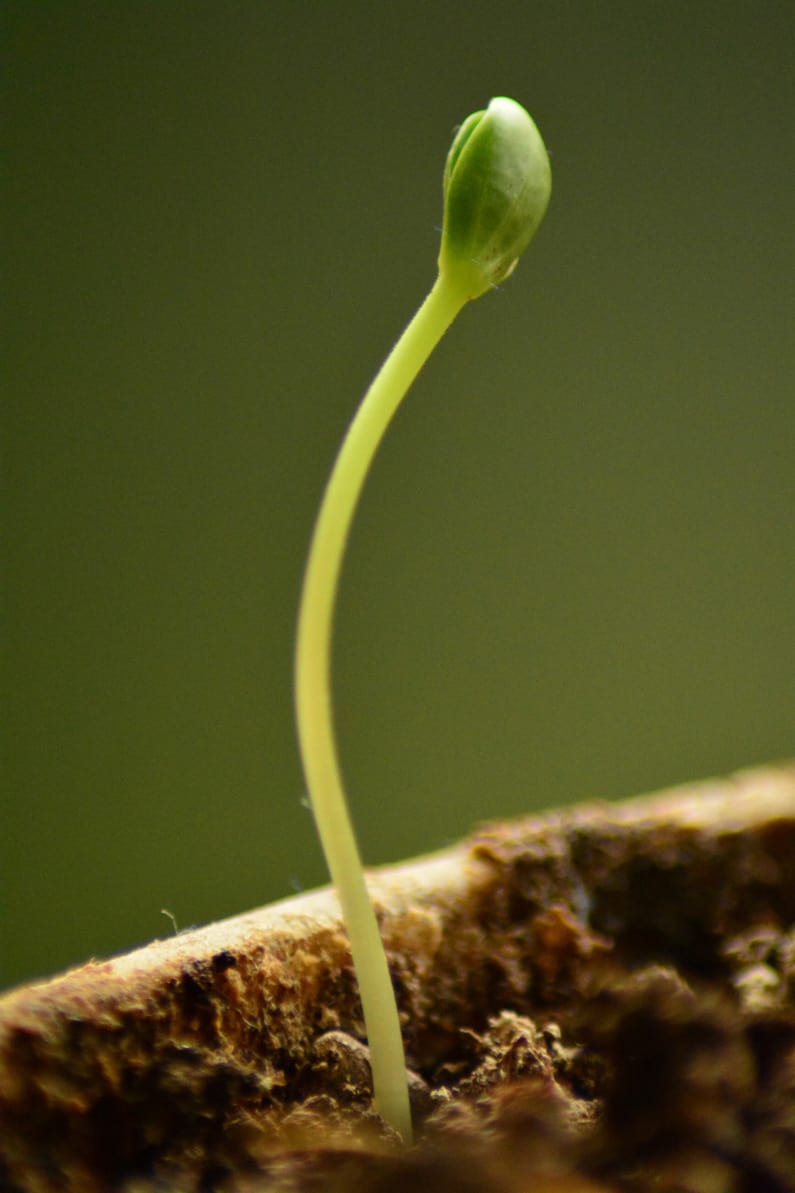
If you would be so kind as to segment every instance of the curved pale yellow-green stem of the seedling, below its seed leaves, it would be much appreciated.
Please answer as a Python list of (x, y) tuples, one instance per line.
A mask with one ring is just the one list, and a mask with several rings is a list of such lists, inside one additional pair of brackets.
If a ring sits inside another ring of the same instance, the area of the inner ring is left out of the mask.
[(364, 396), (343, 441), (315, 524), (298, 611), (295, 699), (318, 832), (351, 941), (378, 1112), (411, 1142), (406, 1061), (387, 957), (349, 816), (332, 721), (334, 599), (353, 512), (389, 421), (467, 295), (442, 277)]

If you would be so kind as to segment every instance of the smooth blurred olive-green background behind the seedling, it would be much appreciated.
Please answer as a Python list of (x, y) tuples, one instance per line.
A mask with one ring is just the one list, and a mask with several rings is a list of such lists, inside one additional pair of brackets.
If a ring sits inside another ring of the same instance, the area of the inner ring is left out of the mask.
[(6, 4), (4, 43), (4, 983), (326, 880), (304, 554), (493, 94), (553, 203), (357, 520), (363, 853), (793, 753), (789, 0)]

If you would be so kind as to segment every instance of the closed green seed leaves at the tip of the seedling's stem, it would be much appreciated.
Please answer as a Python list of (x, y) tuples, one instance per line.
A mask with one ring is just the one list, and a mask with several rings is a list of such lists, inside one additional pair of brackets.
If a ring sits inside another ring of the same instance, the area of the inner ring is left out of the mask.
[(493, 99), (458, 129), (444, 171), (439, 272), (476, 298), (504, 282), (551, 191), (541, 134), (520, 104)]

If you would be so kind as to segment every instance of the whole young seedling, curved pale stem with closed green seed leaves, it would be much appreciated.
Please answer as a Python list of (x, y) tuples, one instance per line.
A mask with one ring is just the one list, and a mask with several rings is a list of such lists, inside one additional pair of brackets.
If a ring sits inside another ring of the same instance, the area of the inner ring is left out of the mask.
[(392, 416), (456, 315), (513, 271), (549, 203), (541, 135), (512, 99), (493, 99), (458, 129), (444, 169), (438, 276), (364, 396), (332, 469), (309, 548), (298, 610), (296, 719), (320, 841), (337, 888), (359, 983), (375, 1104), (412, 1135), (398, 1006), (337, 760), (331, 637), (345, 544), (370, 464)]

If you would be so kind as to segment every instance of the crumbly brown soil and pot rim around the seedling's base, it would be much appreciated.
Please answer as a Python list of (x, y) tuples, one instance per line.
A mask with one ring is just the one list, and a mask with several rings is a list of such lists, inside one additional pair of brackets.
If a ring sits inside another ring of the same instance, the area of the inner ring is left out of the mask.
[(418, 1142), (328, 892), (0, 1000), (0, 1189), (793, 1193), (795, 766), (374, 873)]

